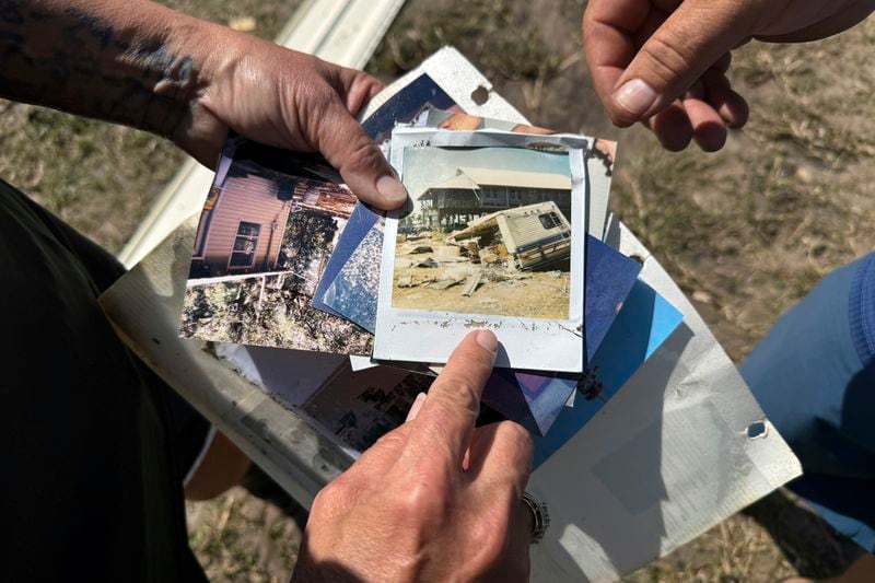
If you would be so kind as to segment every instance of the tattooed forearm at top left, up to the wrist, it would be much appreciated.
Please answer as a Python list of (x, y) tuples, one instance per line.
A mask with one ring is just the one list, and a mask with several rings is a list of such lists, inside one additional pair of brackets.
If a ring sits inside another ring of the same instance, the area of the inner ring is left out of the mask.
[(0, 0), (0, 95), (172, 137), (225, 31), (145, 0)]

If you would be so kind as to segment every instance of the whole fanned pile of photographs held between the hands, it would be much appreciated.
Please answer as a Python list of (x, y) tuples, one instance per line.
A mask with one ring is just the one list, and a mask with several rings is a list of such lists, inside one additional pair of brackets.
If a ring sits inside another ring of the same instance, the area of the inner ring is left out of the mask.
[(468, 115), (424, 73), (363, 126), (402, 209), (359, 202), (317, 155), (229, 139), (180, 335), (244, 376), (300, 376), (273, 396), (361, 452), (490, 329), (481, 421), (520, 422), (544, 462), (682, 319), (605, 241), (615, 144)]

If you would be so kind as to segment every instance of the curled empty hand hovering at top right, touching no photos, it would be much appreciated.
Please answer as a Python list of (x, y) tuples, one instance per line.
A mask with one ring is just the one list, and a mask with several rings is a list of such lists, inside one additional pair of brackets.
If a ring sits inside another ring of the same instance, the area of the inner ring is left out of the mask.
[(590, 0), (584, 50), (617, 126), (644, 121), (667, 150), (692, 139), (712, 152), (747, 121), (726, 79), (734, 48), (826, 38), (873, 10), (874, 0)]

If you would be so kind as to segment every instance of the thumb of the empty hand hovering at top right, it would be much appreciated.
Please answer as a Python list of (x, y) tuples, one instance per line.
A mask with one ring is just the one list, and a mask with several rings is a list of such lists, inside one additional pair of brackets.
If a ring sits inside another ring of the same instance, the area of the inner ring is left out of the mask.
[(660, 113), (749, 35), (752, 2), (686, 0), (654, 32), (614, 88), (608, 108), (618, 126)]

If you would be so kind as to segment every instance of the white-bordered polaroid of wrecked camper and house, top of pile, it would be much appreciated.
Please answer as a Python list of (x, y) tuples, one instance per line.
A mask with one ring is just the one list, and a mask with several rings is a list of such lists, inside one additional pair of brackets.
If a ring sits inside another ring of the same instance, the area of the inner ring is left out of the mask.
[(588, 145), (396, 129), (392, 163), (411, 203), (386, 220), (374, 359), (444, 363), (485, 327), (498, 366), (581, 372)]

